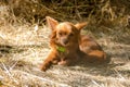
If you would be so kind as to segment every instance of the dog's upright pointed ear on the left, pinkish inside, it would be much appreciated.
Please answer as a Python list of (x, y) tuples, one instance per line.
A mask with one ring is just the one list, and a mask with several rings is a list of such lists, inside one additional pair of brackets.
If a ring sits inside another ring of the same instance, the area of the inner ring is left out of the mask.
[(47, 23), (48, 23), (48, 26), (54, 30), (55, 26), (58, 24), (58, 22), (50, 16), (47, 16)]

